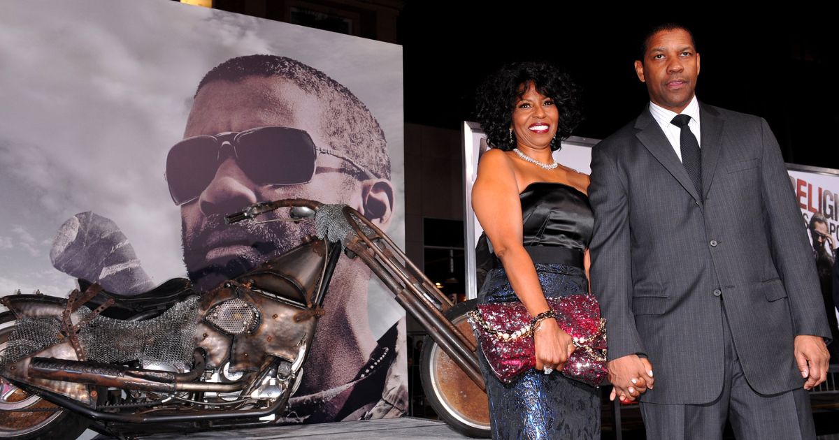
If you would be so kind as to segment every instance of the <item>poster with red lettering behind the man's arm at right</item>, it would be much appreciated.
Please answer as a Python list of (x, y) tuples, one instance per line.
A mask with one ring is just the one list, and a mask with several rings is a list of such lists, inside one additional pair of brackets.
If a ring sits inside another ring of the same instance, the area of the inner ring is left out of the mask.
[(839, 363), (839, 267), (836, 251), (839, 249), (839, 170), (829, 168), (788, 165), (789, 182), (810, 233), (816, 272), (819, 274), (821, 296), (825, 300), (827, 321), (831, 326), (834, 343), (831, 363)]

